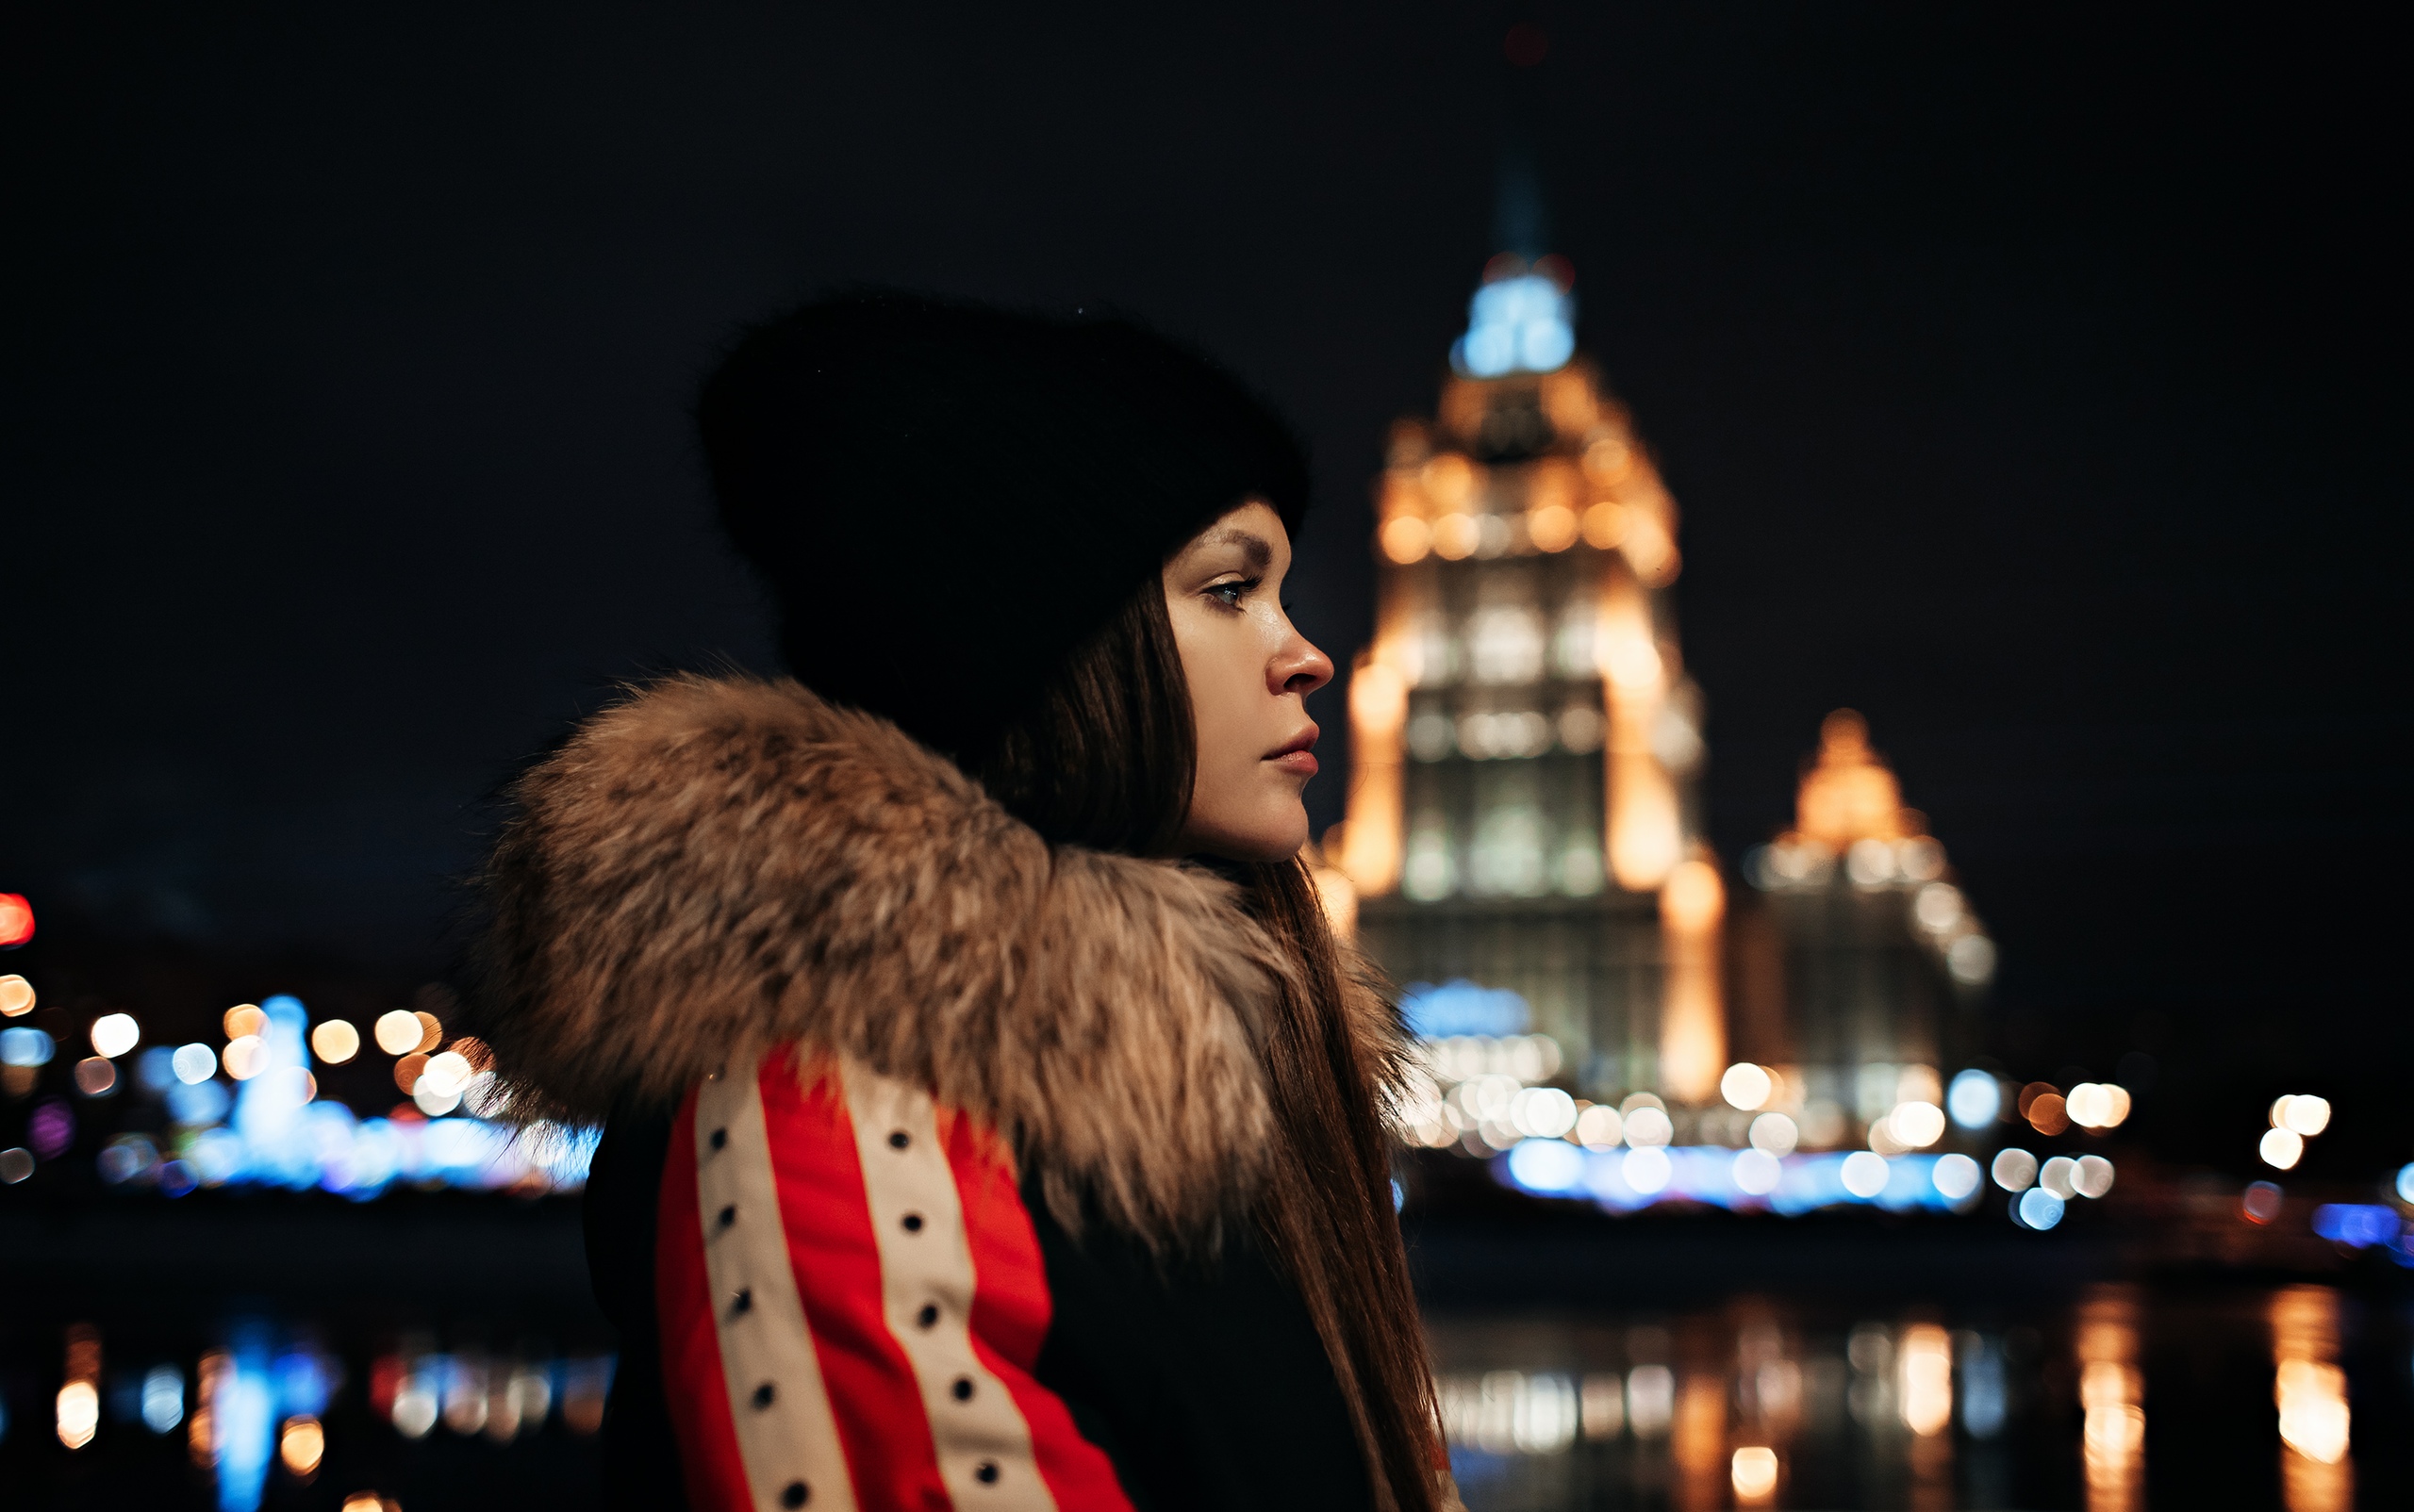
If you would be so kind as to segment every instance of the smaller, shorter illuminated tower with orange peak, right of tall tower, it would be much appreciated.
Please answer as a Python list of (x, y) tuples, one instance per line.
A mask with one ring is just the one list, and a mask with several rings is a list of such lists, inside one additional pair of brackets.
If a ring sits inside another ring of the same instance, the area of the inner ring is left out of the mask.
[(1753, 849), (1743, 875), (1767, 928), (1738, 940), (1738, 1056), (1784, 1068), (1803, 1143), (1883, 1150), (1885, 1114), (1938, 1102), (1941, 1078), (1977, 1049), (1994, 940), (1859, 714), (1820, 723), (1794, 827)]

